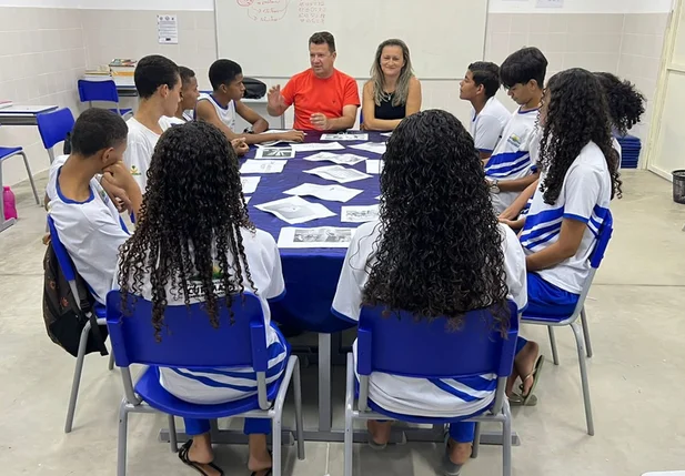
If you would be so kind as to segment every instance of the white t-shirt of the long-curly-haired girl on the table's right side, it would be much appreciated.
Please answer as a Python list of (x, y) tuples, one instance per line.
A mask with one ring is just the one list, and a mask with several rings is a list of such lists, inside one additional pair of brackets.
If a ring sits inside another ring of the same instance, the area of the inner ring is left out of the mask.
[[(544, 176), (540, 178), (541, 183)], [(546, 282), (570, 293), (580, 294), (590, 273), (590, 255), (608, 214), (612, 179), (602, 150), (590, 142), (571, 164), (554, 205), (543, 200), (538, 190), (533, 195), (521, 244), (526, 254), (545, 250), (558, 240), (564, 219), (587, 224), (575, 255), (537, 273)]]

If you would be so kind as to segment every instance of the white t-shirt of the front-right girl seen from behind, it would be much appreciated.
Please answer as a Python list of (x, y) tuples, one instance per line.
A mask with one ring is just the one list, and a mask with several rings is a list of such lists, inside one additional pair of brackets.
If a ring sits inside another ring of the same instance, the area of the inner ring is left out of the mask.
[[(514, 232), (502, 224), (500, 231), (503, 236), (502, 249), (510, 298), (523, 311), (527, 304), (525, 256)], [(371, 266), (375, 262), (375, 243), (381, 235), (379, 221), (364, 223), (356, 230), (347, 249), (333, 298), (333, 310), (352, 321), (360, 318), (362, 294), (369, 281), (367, 261), (370, 260)], [(353, 351), (356, 361), (356, 342)], [(484, 383), (486, 385), (483, 385)], [(473, 388), (476, 385), (480, 388), (477, 391)], [(369, 378), (369, 396), (389, 412), (427, 417), (459, 417), (488, 407), (496, 386), (496, 374), (455, 381), (402, 377), (373, 372)], [(467, 397), (464, 398), (463, 394)]]

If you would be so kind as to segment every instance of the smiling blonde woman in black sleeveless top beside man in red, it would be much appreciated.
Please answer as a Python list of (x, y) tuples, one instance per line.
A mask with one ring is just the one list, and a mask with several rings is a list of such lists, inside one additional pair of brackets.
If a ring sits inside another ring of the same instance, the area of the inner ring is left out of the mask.
[(386, 40), (379, 45), (363, 98), (362, 129), (367, 131), (392, 131), (421, 110), (421, 83), (404, 41)]

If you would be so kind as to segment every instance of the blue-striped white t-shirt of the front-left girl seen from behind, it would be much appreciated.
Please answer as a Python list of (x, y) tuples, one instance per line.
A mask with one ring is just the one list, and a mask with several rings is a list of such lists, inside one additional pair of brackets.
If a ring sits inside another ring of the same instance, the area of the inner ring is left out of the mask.
[[(270, 384), (281, 376), (288, 365), (285, 340), (282, 340), (281, 334), (271, 325), (271, 310), (266, 301), (278, 297), (285, 292), (281, 256), (274, 239), (269, 233), (261, 230), (256, 230), (254, 233), (249, 230), (241, 230), (241, 234), (250, 275), (256, 292), (251, 288), (244, 270), (242, 284), (246, 292), (256, 294), (262, 303), (264, 324), (266, 325), (266, 348), (270, 354), (266, 384)], [(229, 265), (233, 263), (233, 256), (229, 256)], [(119, 265), (117, 267), (119, 269)], [(151, 300), (152, 285), (150, 284), (149, 276), (143, 278), (143, 283), (142, 296)], [(215, 281), (215, 286), (219, 286), (219, 281)], [(114, 286), (118, 288), (118, 283), (114, 283)], [(202, 301), (200, 283), (191, 281), (189, 283), (189, 291), (191, 293), (191, 303)], [(170, 285), (168, 284), (167, 300), (169, 306), (185, 305), (183, 291), (179, 290), (177, 294), (174, 296), (171, 293)], [(231, 375), (216, 372), (203, 373), (187, 368), (160, 368), (160, 384), (178, 398), (201, 405), (232, 402), (256, 395), (256, 376), (252, 367), (231, 368), (230, 373)], [(240, 373), (244, 374), (244, 376), (235, 376), (235, 374)], [(212, 381), (212, 385), (206, 385), (202, 382), (208, 379)], [(245, 391), (245, 387), (252, 389)]]

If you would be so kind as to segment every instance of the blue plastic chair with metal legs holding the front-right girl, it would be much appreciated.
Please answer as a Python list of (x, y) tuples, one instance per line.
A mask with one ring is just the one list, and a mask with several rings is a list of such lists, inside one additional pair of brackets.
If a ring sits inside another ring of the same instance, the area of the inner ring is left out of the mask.
[[(481, 422), (501, 423), (503, 474), (511, 475), (512, 416), (505, 397), (505, 386), (514, 366), (518, 336), (516, 305), (510, 302), (511, 325), (506, 338), (502, 338), (502, 335), (493, 330), (493, 317), (483, 310), (467, 313), (461, 331), (449, 330), (447, 320), (444, 317), (431, 322), (425, 320), (416, 322), (410, 313), (401, 312), (399, 316), (393, 314), (385, 317), (384, 311), (384, 306), (364, 307), (360, 316), (356, 341), (356, 371), (360, 375), (359, 409), (354, 409), (354, 357), (353, 354), (347, 354), (344, 476), (352, 476), (355, 419), (397, 419), (432, 425), (476, 422), (474, 457), (479, 450)], [(463, 378), (492, 373), (496, 374), (498, 379), (493, 405), (484, 409), (481, 415), (470, 418), (427, 418), (397, 415), (371, 401), (369, 376), (372, 372), (416, 378)]]

